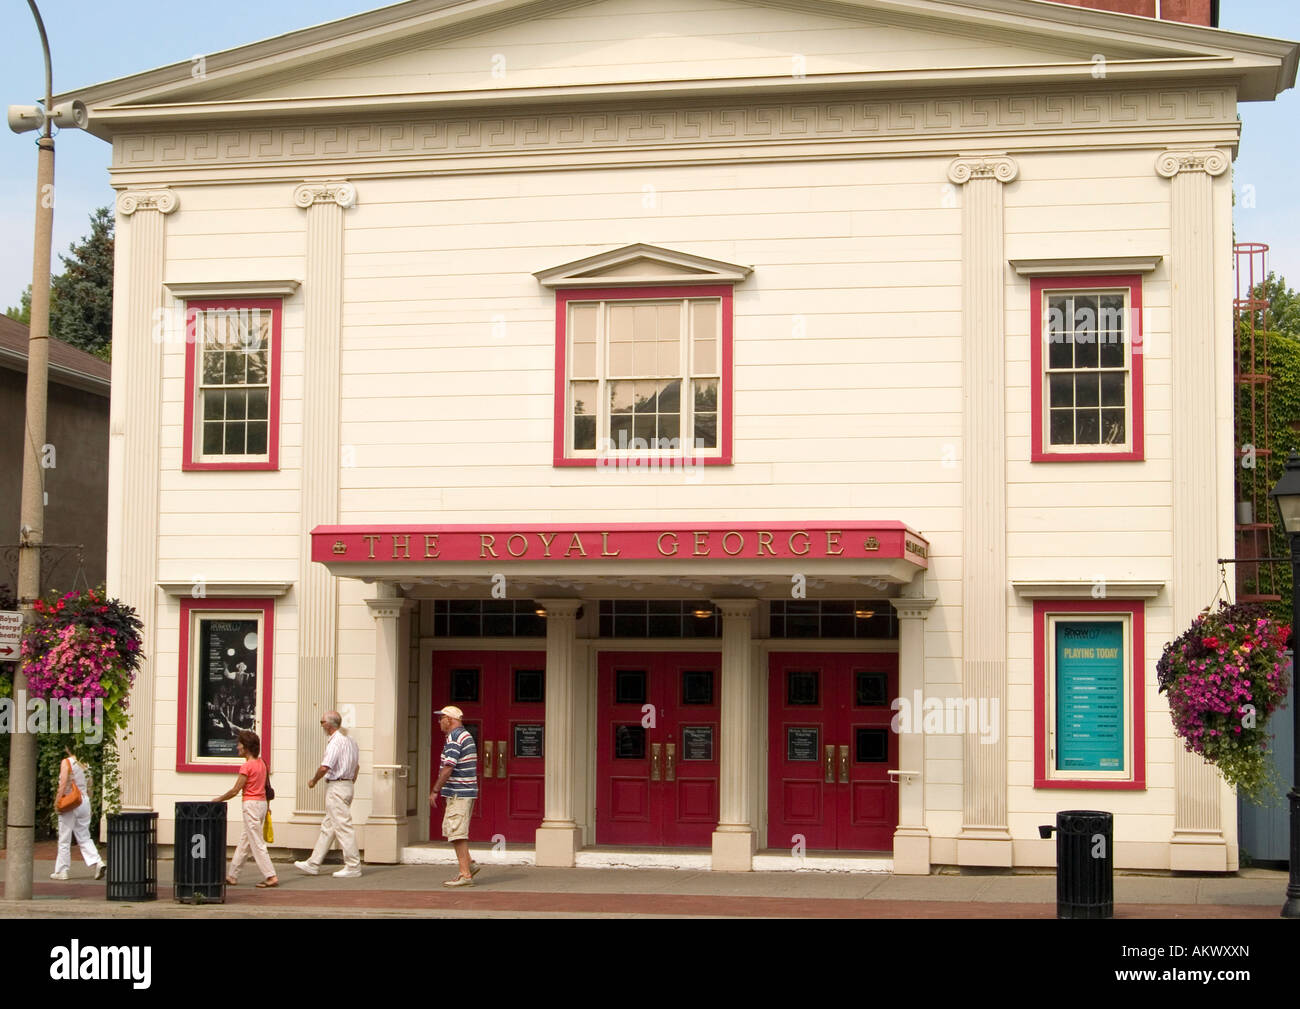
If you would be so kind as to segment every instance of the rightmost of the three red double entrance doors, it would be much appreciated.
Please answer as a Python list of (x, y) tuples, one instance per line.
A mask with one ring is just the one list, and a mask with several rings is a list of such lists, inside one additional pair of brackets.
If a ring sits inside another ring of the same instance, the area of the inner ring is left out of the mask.
[(774, 653), (768, 679), (768, 844), (892, 849), (898, 655)]

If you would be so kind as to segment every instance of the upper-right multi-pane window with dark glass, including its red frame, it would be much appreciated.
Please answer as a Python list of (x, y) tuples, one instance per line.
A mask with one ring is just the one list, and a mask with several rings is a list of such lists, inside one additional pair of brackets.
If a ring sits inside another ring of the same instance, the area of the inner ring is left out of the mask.
[(1031, 283), (1032, 458), (1143, 458), (1141, 278)]

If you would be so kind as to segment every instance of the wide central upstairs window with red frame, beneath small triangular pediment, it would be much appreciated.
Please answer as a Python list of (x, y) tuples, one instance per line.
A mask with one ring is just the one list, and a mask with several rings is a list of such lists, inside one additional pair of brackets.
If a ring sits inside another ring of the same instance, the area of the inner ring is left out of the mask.
[(556, 298), (556, 463), (729, 462), (731, 287)]

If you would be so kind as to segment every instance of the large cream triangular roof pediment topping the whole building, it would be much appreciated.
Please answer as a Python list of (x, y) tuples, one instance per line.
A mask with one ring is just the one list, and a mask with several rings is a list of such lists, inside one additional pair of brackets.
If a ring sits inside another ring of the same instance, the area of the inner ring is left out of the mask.
[(1244, 98), (1271, 98), (1295, 61), (1271, 39), (1037, 0), (408, 0), (72, 96), (104, 135), (179, 108), (282, 118), (1175, 74), (1231, 73)]

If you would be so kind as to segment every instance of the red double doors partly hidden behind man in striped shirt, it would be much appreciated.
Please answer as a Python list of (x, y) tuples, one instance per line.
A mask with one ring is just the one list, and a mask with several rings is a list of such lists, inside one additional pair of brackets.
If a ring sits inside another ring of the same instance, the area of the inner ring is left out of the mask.
[[(478, 801), (469, 840), (533, 844), (545, 805), (545, 651), (434, 651), (433, 711), (455, 705), (478, 746)], [(434, 780), (445, 736), (433, 719)], [(432, 787), (432, 783), (430, 783)], [(442, 837), (439, 802), (429, 836)]]

